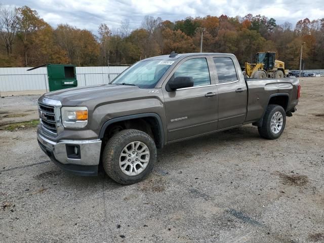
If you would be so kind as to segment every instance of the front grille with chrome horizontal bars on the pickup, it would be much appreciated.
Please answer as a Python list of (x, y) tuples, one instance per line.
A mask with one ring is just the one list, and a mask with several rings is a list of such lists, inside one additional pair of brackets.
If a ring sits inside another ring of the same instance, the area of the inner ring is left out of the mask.
[(48, 131), (50, 135), (57, 135), (57, 126), (55, 119), (55, 107), (51, 105), (45, 105), (38, 103), (39, 106), (39, 118), (41, 118), (41, 124), (45, 131)]

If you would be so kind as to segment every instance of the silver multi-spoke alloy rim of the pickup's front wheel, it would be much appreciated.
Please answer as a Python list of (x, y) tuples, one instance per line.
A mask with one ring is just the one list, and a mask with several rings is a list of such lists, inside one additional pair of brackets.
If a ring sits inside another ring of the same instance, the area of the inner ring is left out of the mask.
[(128, 176), (142, 173), (150, 160), (150, 151), (147, 145), (140, 141), (127, 144), (119, 155), (119, 168)]

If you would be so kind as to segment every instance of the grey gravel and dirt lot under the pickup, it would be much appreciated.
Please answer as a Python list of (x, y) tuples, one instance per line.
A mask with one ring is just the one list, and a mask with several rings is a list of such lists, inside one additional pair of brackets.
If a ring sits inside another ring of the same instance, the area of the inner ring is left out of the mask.
[[(324, 242), (324, 78), (301, 85), (279, 139), (244, 126), (173, 144), (130, 186), (64, 173), (35, 128), (1, 130), (0, 241)], [(0, 99), (0, 123), (37, 117), (36, 98)]]

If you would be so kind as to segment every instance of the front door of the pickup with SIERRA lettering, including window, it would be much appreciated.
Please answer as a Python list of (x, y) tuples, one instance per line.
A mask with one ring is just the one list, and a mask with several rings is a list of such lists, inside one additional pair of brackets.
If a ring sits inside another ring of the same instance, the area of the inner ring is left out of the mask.
[[(214, 65), (208, 56), (185, 58), (164, 83), (168, 141), (217, 129), (217, 89), (208, 63)], [(168, 92), (168, 81), (179, 76), (192, 77), (194, 86)]]

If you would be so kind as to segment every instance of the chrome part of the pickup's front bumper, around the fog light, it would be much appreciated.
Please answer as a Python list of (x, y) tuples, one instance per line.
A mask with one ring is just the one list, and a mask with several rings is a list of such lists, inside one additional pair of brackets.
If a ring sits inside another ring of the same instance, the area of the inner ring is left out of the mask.
[[(54, 157), (59, 163), (63, 165), (78, 165), (78, 166), (98, 166), (100, 160), (101, 140), (62, 140), (53, 142), (37, 131), (37, 140), (39, 146), (51, 158)], [(71, 158), (67, 155), (67, 146), (78, 146), (80, 156), (79, 158)]]

